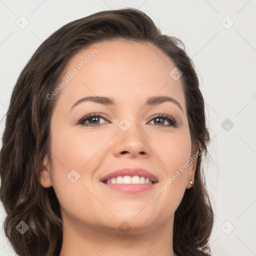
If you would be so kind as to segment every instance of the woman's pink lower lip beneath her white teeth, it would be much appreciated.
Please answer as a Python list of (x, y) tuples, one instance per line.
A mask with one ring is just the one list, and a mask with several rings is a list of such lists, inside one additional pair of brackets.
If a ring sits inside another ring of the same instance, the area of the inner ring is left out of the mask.
[(156, 183), (157, 182), (150, 183), (150, 184), (108, 184), (108, 183), (103, 183), (103, 184), (108, 188), (115, 189), (121, 192), (134, 193), (134, 192), (142, 192), (142, 191), (152, 189)]

